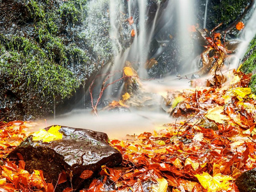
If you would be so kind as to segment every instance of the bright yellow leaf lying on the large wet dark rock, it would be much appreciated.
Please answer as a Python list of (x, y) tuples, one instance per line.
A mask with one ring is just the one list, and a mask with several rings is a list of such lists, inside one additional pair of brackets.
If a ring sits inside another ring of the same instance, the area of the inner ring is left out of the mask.
[(48, 131), (41, 129), (40, 131), (33, 133), (33, 141), (50, 142), (54, 140), (62, 140), (62, 134), (59, 132), (61, 126), (52, 126)]

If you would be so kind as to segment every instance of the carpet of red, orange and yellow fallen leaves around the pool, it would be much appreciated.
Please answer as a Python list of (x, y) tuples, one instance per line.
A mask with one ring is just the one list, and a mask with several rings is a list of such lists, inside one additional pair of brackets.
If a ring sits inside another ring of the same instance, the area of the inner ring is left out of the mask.
[[(102, 166), (81, 192), (239, 191), (236, 178), (256, 167), (256, 96), (249, 82), (250, 75), (233, 72), (222, 88), (184, 90), (172, 105), (172, 115), (184, 120), (125, 141), (110, 140), (122, 153), (122, 165)], [(29, 174), (23, 161), (3, 159), (28, 136), (29, 126), (1, 124), (0, 191), (54, 191), (40, 170)]]

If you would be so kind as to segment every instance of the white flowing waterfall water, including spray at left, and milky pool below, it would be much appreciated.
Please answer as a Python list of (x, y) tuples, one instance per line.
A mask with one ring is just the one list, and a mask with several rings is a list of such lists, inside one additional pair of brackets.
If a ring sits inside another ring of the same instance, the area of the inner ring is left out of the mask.
[[(170, 40), (166, 41), (162, 39), (161, 35), (164, 34), (164, 30), (168, 31), (168, 29), (172, 28), (174, 26), (173, 23), (179, 23), (177, 38), (179, 39), (179, 44), (182, 45), (179, 54), (184, 57), (187, 54), (188, 48), (186, 45), (188, 45), (188, 42), (191, 40), (188, 28), (195, 24), (195, 18), (193, 17), (193, 3), (195, 2), (191, 0), (170, 0), (168, 4), (164, 4), (165, 7), (161, 11), (160, 4), (158, 4), (154, 18), (150, 23), (148, 23), (147, 0), (92, 0), (89, 3), (88, 26), (84, 33), (86, 33), (89, 42), (93, 45), (95, 52), (99, 55), (104, 55), (106, 54), (104, 49), (111, 49), (111, 55), (113, 55), (111, 65), (104, 67), (102, 73), (122, 70), (125, 66), (125, 61), (128, 60), (131, 63), (135, 63), (140, 78), (146, 79), (147, 70), (145, 70), (144, 63), (148, 59), (150, 42), (154, 38), (159, 44), (163, 45), (155, 51), (152, 57), (160, 54), (165, 47), (164, 44), (170, 42)], [(207, 3), (208, 0), (206, 0), (205, 4), (204, 28), (207, 19)], [(106, 8), (108, 12), (106, 12)], [(102, 17), (102, 15), (104, 17)], [(124, 17), (124, 15), (128, 16)], [(130, 20), (127, 26), (122, 24), (125, 18)], [(178, 20), (175, 20), (177, 18)], [(243, 58), (250, 40), (255, 36), (255, 20), (256, 12), (253, 13), (243, 30), (243, 42), (239, 47), (239, 52), (236, 54), (237, 59), (232, 61), (230, 68), (237, 67), (237, 63)], [(160, 22), (162, 22), (161, 29), (159, 29)], [(124, 31), (122, 34), (120, 34), (121, 29)], [(106, 30), (109, 33), (111, 42), (108, 41), (107, 36), (103, 36), (99, 44), (97, 44), (97, 39), (99, 36), (102, 36), (102, 31), (104, 33)], [(134, 36), (131, 36), (132, 30), (135, 32)], [(169, 34), (167, 35), (170, 36)], [(132, 44), (124, 49), (124, 42), (131, 41)], [(191, 49), (191, 47), (189, 49)], [(108, 58), (108, 56), (106, 57)], [(102, 62), (102, 60), (100, 60), (100, 62)], [(117, 77), (113, 76), (113, 78)], [(170, 90), (189, 88), (187, 79), (177, 81), (176, 78), (174, 81), (173, 78), (175, 77), (142, 81), (143, 88), (145, 92), (157, 93), (158, 95), (166, 95)], [(113, 82), (114, 79), (110, 79), (109, 81)], [(119, 86), (118, 89), (122, 90), (122, 86)], [(86, 94), (88, 95), (88, 92)], [(105, 95), (110, 98), (111, 88), (106, 90)], [(120, 97), (120, 95), (117, 97)], [(106, 132), (110, 138), (123, 138), (126, 134), (140, 134), (144, 131), (152, 131), (157, 126), (174, 121), (166, 113), (161, 112), (162, 99), (161, 96), (157, 98), (158, 99), (153, 100), (153, 102), (156, 102), (155, 105), (159, 106), (159, 108), (151, 112), (148, 109), (131, 109), (130, 113), (109, 113), (108, 111), (103, 111), (100, 112), (99, 117), (97, 117), (90, 114), (90, 109), (76, 109), (65, 115), (58, 116), (54, 120), (47, 119), (47, 126), (59, 124), (103, 131)], [(84, 97), (83, 102), (85, 102)], [(42, 127), (45, 127), (45, 123), (42, 124)]]

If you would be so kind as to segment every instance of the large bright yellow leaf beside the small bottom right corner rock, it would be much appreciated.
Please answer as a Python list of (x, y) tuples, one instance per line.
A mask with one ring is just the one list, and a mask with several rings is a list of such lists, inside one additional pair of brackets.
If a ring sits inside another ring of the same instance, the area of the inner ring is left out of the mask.
[(208, 192), (216, 192), (231, 189), (229, 180), (232, 177), (222, 175), (221, 173), (216, 174), (214, 177), (209, 173), (203, 172), (202, 174), (196, 174), (195, 177), (199, 180), (200, 184), (207, 189)]

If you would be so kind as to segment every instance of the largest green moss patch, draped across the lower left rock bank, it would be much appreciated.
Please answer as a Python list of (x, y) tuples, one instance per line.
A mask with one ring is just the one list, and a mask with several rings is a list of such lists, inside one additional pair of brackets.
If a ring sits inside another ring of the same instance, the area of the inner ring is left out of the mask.
[(65, 98), (79, 86), (72, 72), (49, 60), (36, 42), (17, 36), (1, 36), (0, 42), (1, 73), (16, 87), (26, 83), (28, 88), (33, 86), (39, 93)]

